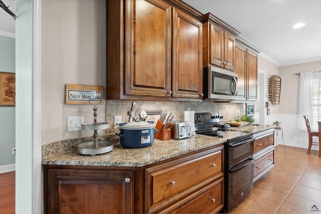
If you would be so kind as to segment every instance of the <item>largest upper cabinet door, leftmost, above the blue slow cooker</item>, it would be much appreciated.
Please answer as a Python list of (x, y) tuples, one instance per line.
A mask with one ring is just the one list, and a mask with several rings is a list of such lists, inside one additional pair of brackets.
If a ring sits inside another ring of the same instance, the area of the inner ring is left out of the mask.
[(125, 93), (171, 96), (172, 7), (159, 0), (126, 1)]

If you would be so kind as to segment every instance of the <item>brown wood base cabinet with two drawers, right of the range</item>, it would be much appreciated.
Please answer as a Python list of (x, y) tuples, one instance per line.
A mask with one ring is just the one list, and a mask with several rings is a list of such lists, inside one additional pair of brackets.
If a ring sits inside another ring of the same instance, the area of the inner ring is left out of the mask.
[(253, 182), (274, 166), (274, 129), (254, 134)]

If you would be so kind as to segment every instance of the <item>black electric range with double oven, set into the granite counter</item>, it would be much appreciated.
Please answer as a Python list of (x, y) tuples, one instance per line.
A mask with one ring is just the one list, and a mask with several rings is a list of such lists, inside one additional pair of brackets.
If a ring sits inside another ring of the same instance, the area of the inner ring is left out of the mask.
[(253, 189), (253, 143), (250, 132), (221, 128), (217, 113), (196, 113), (195, 132), (226, 138), (224, 144), (224, 210), (228, 213)]

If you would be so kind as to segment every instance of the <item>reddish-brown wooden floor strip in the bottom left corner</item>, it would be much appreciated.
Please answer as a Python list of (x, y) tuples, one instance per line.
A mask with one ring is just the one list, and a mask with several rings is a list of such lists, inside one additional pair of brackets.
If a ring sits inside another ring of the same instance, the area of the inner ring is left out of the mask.
[(16, 171), (0, 173), (0, 213), (15, 213)]

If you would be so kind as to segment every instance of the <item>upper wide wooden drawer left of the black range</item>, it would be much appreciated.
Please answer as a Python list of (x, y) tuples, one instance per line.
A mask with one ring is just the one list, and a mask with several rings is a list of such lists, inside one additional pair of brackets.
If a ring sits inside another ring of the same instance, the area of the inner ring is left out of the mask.
[(222, 148), (146, 169), (147, 211), (169, 205), (223, 175)]

